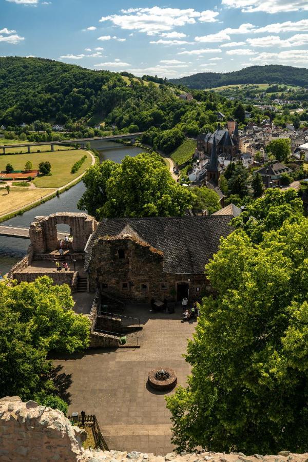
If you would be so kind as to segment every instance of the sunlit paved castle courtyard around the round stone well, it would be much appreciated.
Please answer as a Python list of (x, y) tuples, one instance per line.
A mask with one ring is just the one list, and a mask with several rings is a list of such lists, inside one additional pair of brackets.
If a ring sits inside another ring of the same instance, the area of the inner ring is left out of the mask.
[(170, 413), (165, 393), (147, 387), (147, 374), (156, 367), (169, 367), (176, 371), (178, 383), (185, 385), (190, 366), (182, 355), (196, 322), (181, 322), (181, 307), (175, 314), (151, 313), (148, 305), (125, 311), (141, 318), (143, 330), (134, 334), (141, 348), (57, 357), (59, 387), (67, 392), (69, 413), (84, 410), (97, 416), (109, 449), (166, 454), (173, 449)]

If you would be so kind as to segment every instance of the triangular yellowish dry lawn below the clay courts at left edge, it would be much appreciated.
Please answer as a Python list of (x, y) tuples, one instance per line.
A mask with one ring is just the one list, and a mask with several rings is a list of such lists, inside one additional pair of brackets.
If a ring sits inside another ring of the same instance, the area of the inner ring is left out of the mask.
[(13, 210), (23, 208), (34, 201), (39, 201), (54, 189), (11, 188), (8, 194), (6, 189), (0, 189), (0, 215), (6, 215)]

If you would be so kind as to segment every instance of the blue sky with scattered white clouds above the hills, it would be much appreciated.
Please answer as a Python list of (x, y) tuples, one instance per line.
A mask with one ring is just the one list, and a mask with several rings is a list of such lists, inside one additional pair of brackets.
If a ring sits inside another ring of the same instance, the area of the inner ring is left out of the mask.
[(0, 0), (0, 56), (167, 79), (307, 66), (308, 0), (165, 2)]

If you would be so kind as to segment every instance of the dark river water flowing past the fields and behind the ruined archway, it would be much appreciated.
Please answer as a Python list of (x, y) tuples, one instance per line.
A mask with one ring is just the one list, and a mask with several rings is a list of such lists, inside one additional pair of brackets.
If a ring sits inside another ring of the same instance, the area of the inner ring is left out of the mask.
[[(100, 152), (101, 162), (110, 159), (114, 162), (121, 163), (125, 156), (134, 157), (142, 152), (142, 149), (138, 147), (123, 146), (122, 144), (106, 141), (103, 143), (101, 141), (93, 141), (91, 142), (91, 147)], [(60, 197), (54, 197), (50, 199), (50, 201), (45, 202), (45, 204), (38, 205), (26, 211), (23, 215), (17, 215), (17, 217), (11, 218), (1, 224), (29, 227), (37, 216), (47, 216), (62, 211), (81, 211), (77, 208), (76, 204), (84, 191), (85, 186), (81, 181), (68, 191), (63, 192)], [(59, 230), (61, 230), (60, 225)], [(0, 273), (6, 274), (18, 260), (23, 258), (27, 253), (29, 244), (29, 239), (0, 236)]]

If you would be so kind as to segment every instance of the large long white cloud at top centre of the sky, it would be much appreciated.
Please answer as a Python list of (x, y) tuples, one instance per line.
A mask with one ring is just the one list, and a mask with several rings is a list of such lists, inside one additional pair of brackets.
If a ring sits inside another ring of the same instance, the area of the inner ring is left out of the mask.
[(121, 10), (121, 14), (103, 16), (100, 22), (111, 21), (121, 29), (137, 30), (148, 35), (171, 31), (175, 27), (202, 22), (216, 22), (217, 11), (195, 11), (193, 8), (130, 8)]

